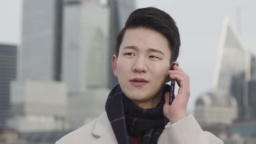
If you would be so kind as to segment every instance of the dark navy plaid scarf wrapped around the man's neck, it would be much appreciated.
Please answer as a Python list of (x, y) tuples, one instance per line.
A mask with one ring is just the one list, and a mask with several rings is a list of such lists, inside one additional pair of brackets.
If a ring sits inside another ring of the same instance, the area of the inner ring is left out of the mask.
[[(164, 93), (170, 89), (165, 85)], [(109, 93), (105, 109), (118, 143), (131, 144), (130, 135), (143, 135), (142, 143), (157, 143), (168, 119), (162, 112), (164, 97), (152, 109), (142, 109), (129, 100), (119, 85)]]

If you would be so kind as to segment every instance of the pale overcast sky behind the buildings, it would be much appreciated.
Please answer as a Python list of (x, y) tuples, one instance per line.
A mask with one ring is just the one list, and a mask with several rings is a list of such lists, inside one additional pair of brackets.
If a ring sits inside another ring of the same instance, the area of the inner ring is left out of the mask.
[[(256, 54), (255, 0), (137, 0), (137, 7), (156, 7), (177, 22), (181, 33), (180, 67), (190, 76), (193, 109), (198, 95), (211, 89), (223, 19), (229, 16), (238, 27), (246, 48)], [(237, 22), (237, 9), (241, 21)], [(0, 43), (20, 44), (21, 0), (0, 1)], [(241, 23), (241, 24), (237, 24)]]

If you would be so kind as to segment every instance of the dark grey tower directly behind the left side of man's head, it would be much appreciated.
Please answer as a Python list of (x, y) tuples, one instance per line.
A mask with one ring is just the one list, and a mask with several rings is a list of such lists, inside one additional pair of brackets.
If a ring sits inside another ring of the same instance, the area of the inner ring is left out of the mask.
[[(115, 38), (117, 34), (125, 26), (125, 22), (128, 16), (136, 9), (135, 0), (125, 1), (125, 0), (108, 0), (110, 7), (110, 35), (109, 35), (109, 55), (108, 61), (110, 62), (111, 57), (115, 53)], [(113, 74), (112, 63), (109, 63), (109, 88), (113, 88), (117, 85), (118, 79)]]

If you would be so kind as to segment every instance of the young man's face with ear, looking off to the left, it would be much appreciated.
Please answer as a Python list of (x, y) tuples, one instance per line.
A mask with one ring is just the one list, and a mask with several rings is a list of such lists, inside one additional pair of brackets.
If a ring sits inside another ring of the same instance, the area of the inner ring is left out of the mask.
[(146, 28), (126, 29), (119, 56), (112, 57), (115, 76), (124, 94), (137, 103), (152, 103), (170, 69), (171, 51), (167, 39)]

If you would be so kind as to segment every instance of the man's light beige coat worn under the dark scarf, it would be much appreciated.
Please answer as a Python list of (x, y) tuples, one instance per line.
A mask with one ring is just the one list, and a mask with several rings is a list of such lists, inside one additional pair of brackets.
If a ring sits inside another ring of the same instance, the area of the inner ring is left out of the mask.
[[(56, 144), (82, 143), (117, 143), (106, 112), (102, 113), (100, 117), (91, 123), (63, 136), (56, 142)], [(158, 143), (223, 144), (218, 137), (208, 131), (202, 131), (191, 114), (177, 123), (167, 124), (158, 139)]]

